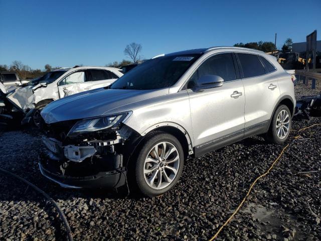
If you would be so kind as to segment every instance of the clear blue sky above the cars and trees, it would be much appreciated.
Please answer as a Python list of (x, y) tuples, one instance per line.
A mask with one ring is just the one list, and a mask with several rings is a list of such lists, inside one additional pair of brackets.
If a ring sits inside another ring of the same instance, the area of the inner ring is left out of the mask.
[[(0, 0), (0, 64), (105, 65), (126, 59), (131, 42), (144, 58), (162, 53), (287, 37), (317, 30), (321, 1), (15, 1)], [(309, 14), (306, 23), (306, 13)]]

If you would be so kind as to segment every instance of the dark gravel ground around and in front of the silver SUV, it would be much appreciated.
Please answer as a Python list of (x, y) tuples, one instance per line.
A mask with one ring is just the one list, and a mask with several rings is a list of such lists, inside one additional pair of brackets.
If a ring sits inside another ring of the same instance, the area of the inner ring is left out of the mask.
[[(296, 92), (315, 93), (302, 84)], [(290, 146), (217, 240), (321, 240), (321, 126), (297, 132), (312, 124), (321, 124), (321, 118), (293, 120)], [(298, 135), (302, 138), (294, 141)], [(0, 167), (53, 197), (75, 240), (208, 240), (285, 146), (253, 137), (188, 160), (173, 190), (142, 198), (64, 189), (42, 177), (36, 130), (4, 130), (0, 141)], [(0, 182), (1, 240), (66, 239), (57, 211), (40, 194), (10, 176), (0, 174)]]

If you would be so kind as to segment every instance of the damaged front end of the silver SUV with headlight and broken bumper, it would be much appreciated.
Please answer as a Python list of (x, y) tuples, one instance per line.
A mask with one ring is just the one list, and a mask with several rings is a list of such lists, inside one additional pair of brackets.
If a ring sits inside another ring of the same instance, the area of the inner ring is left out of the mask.
[(117, 188), (125, 184), (125, 164), (139, 134), (122, 124), (129, 113), (42, 123), (45, 146), (41, 173), (63, 187)]

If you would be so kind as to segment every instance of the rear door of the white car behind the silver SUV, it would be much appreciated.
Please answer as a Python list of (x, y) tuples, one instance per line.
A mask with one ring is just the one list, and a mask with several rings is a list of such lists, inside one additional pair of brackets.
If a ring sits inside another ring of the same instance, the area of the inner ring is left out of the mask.
[(96, 89), (100, 87), (106, 87), (113, 83), (118, 76), (105, 69), (89, 69), (87, 89)]

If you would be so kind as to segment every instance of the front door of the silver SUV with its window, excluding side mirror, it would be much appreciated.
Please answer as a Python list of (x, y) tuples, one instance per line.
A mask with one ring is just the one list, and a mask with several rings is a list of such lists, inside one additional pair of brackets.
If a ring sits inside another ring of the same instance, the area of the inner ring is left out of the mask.
[[(235, 60), (234, 53), (216, 54), (202, 63), (188, 82), (196, 155), (244, 136), (244, 87)], [(224, 83), (200, 89), (198, 79), (203, 75), (218, 75)]]

